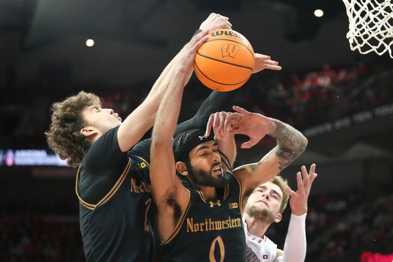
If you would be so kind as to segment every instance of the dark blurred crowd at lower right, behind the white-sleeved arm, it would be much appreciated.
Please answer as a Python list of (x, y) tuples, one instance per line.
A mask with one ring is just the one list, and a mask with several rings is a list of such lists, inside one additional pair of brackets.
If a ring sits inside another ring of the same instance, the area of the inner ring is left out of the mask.
[[(363, 196), (364, 198), (364, 196)], [(283, 248), (290, 218), (266, 235)], [(306, 219), (306, 261), (359, 261), (364, 252), (393, 253), (393, 195), (362, 199), (358, 191), (319, 195), (309, 199)]]

